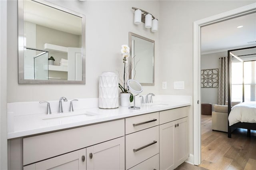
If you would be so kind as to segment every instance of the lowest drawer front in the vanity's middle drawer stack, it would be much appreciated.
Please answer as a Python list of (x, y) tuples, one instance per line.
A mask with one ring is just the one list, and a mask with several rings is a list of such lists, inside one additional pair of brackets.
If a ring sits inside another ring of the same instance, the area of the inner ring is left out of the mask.
[(159, 154), (141, 162), (129, 170), (159, 170)]

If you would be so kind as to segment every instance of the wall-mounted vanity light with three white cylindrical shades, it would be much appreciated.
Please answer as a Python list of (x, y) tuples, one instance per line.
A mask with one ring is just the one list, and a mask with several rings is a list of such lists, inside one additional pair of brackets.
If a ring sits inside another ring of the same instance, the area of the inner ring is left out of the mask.
[(132, 7), (134, 12), (134, 24), (139, 25), (141, 22), (145, 23), (145, 28), (151, 28), (152, 32), (158, 30), (158, 19), (156, 19), (152, 14), (141, 10), (139, 8)]

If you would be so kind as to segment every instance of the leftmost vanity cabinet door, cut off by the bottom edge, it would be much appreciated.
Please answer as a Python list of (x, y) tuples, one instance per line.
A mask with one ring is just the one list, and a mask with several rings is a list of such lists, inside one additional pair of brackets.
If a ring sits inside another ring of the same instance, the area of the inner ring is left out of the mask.
[(86, 149), (24, 166), (24, 170), (86, 170)]

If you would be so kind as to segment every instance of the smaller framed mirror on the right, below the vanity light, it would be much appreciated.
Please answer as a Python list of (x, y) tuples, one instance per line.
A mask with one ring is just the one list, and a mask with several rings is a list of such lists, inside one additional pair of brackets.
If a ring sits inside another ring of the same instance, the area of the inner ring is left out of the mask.
[(129, 32), (129, 78), (141, 85), (154, 85), (155, 41)]

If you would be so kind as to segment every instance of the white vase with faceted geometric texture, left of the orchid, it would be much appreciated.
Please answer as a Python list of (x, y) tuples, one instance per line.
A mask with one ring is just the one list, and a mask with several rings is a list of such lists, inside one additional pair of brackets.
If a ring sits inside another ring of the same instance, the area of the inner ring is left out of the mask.
[(99, 76), (99, 108), (118, 108), (118, 75), (115, 72), (102, 72)]

